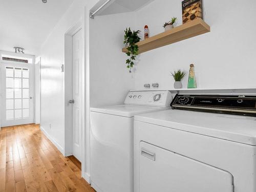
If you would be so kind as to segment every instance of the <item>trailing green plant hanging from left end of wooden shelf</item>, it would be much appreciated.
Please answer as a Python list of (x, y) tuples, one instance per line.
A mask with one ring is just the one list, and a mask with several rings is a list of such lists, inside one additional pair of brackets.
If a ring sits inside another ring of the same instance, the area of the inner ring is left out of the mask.
[(126, 65), (127, 68), (130, 70), (129, 72), (132, 73), (131, 69), (134, 66), (134, 61), (136, 59), (136, 56), (139, 54), (139, 46), (136, 45), (137, 42), (140, 41), (140, 37), (138, 34), (140, 31), (131, 31), (131, 28), (124, 31), (124, 41), (123, 44), (126, 45), (126, 55), (129, 56), (128, 59), (126, 59)]

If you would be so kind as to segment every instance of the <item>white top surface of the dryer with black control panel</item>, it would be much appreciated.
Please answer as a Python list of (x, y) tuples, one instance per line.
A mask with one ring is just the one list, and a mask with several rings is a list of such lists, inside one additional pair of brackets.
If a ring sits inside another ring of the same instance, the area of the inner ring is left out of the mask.
[(135, 116), (135, 120), (181, 131), (256, 145), (256, 117), (166, 110)]

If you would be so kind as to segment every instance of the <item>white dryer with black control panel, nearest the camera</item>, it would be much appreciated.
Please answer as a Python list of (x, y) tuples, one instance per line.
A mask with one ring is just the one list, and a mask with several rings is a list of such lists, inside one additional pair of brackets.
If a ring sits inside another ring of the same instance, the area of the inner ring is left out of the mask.
[(256, 97), (176, 95), (172, 107), (135, 116), (134, 191), (255, 192)]

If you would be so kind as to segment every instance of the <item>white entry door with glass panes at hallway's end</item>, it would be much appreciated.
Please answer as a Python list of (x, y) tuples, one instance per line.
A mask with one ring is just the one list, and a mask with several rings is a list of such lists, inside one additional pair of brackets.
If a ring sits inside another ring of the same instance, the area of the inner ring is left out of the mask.
[(33, 65), (1, 63), (2, 127), (33, 123)]

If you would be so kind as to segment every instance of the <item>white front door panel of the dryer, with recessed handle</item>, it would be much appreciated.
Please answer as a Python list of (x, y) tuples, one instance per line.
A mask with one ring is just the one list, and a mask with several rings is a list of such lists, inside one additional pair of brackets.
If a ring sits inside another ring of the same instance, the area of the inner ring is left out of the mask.
[(233, 176), (145, 142), (140, 143), (140, 192), (231, 192)]

